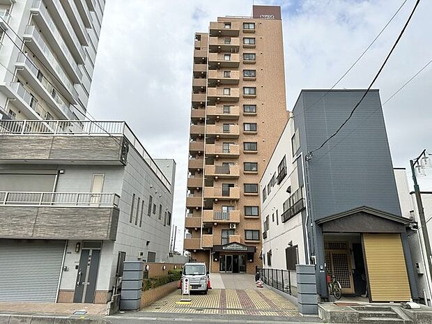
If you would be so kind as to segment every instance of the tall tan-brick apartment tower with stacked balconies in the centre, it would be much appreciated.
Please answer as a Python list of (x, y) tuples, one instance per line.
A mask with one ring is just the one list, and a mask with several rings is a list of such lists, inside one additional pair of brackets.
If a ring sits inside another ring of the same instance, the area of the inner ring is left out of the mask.
[(287, 119), (280, 7), (196, 33), (184, 248), (212, 272), (261, 265), (259, 179)]

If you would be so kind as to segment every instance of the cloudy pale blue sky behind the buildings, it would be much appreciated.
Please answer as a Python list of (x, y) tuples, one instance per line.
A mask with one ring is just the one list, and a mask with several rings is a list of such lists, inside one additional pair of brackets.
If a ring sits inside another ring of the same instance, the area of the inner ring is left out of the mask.
[[(253, 1), (253, 0), (252, 0)], [(126, 121), (154, 158), (176, 160), (173, 224), (183, 247), (194, 33), (226, 15), (250, 16), (252, 1), (107, 0), (88, 112)], [(330, 88), (362, 54), (405, 0), (286, 0), (281, 6), (287, 109), (303, 88)], [(367, 88), (415, 0), (406, 0), (336, 88)], [(432, 60), (432, 1), (423, 0), (373, 88), (385, 102)], [(394, 167), (432, 151), (432, 63), (383, 107)], [(373, 158), (373, 157), (371, 157)], [(419, 179), (432, 190), (432, 171)]]

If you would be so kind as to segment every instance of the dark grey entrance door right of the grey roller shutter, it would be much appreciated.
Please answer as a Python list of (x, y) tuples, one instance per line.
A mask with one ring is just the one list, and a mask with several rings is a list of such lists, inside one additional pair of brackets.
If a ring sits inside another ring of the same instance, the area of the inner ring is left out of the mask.
[(99, 247), (86, 248), (86, 242), (81, 250), (75, 295), (73, 302), (93, 303), (95, 300), (96, 279), (100, 259), (100, 242), (88, 242), (88, 245), (97, 244)]

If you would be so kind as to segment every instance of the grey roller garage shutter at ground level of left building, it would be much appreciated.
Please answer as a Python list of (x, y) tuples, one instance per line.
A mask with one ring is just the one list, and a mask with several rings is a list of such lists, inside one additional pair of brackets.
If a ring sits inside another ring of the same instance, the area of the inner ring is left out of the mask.
[(65, 241), (0, 240), (0, 301), (56, 302)]

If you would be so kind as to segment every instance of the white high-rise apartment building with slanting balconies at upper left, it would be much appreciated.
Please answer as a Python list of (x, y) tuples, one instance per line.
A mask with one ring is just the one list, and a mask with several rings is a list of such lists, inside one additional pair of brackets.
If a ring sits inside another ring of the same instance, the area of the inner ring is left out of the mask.
[(104, 8), (0, 1), (0, 119), (84, 119)]

